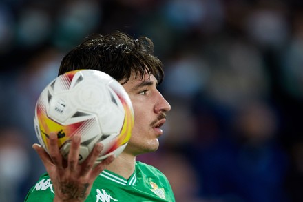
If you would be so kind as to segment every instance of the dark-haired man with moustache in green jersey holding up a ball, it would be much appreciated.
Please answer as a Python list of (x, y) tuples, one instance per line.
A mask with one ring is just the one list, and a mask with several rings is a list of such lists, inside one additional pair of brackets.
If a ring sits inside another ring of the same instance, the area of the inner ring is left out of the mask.
[(103, 71), (119, 81), (132, 100), (134, 128), (123, 153), (109, 156), (94, 167), (103, 145), (96, 144), (79, 165), (81, 137), (72, 139), (70, 154), (64, 161), (57, 137), (50, 134), (49, 154), (34, 144), (48, 174), (28, 192), (25, 201), (175, 201), (167, 178), (156, 168), (136, 161), (138, 154), (158, 149), (160, 127), (171, 107), (157, 90), (163, 80), (160, 60), (154, 56), (154, 44), (147, 37), (132, 39), (114, 32), (93, 35), (71, 50), (61, 61), (59, 75), (71, 70)]

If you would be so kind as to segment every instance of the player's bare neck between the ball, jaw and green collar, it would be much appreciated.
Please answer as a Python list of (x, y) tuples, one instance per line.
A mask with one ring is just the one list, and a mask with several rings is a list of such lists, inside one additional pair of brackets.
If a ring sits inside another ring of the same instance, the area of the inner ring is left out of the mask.
[(122, 152), (111, 164), (107, 170), (112, 171), (125, 179), (134, 173), (136, 164), (136, 156)]

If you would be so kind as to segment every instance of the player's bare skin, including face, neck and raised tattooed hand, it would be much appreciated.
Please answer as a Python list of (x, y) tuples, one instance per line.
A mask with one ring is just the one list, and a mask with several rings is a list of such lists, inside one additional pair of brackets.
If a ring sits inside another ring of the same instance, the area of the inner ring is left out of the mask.
[(148, 74), (143, 78), (135, 78), (132, 74), (123, 87), (132, 100), (135, 122), (127, 147), (116, 159), (109, 156), (93, 168), (98, 154), (103, 149), (103, 145), (98, 143), (90, 156), (79, 164), (79, 135), (72, 139), (67, 161), (60, 154), (55, 134), (50, 134), (49, 154), (40, 145), (33, 145), (52, 180), (54, 201), (85, 201), (94, 180), (104, 169), (128, 179), (134, 172), (136, 156), (158, 149), (158, 137), (163, 134), (160, 126), (165, 123), (165, 112), (168, 112), (171, 106), (158, 91), (156, 78)]

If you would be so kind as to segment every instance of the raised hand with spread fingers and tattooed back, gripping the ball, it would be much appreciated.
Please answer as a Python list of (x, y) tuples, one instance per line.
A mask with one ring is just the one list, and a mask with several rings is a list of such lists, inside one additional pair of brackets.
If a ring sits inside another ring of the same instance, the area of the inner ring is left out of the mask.
[(114, 161), (114, 156), (109, 156), (94, 166), (98, 155), (103, 149), (103, 145), (97, 143), (90, 156), (79, 164), (80, 142), (81, 137), (76, 134), (72, 138), (67, 160), (63, 158), (59, 151), (56, 134), (50, 134), (49, 154), (45, 152), (41, 145), (34, 144), (32, 146), (39, 154), (52, 180), (54, 201), (56, 202), (85, 201), (98, 174)]

